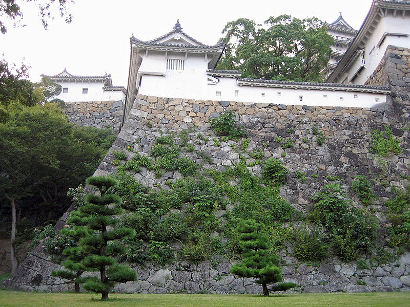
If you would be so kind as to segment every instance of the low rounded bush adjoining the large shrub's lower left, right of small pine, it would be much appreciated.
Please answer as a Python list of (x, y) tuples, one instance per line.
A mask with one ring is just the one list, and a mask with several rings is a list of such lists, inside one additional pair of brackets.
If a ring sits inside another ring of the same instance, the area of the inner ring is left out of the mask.
[(295, 229), (293, 233), (293, 250), (295, 257), (304, 262), (324, 260), (329, 255), (329, 244), (326, 243), (319, 227), (314, 226), (310, 231)]

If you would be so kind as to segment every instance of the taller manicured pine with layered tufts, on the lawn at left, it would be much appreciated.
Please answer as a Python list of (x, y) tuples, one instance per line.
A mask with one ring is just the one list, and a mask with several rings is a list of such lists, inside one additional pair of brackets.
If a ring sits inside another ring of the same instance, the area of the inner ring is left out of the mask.
[(132, 238), (135, 231), (131, 228), (117, 227), (118, 215), (122, 209), (115, 205), (121, 203), (118, 195), (107, 193), (107, 190), (118, 185), (112, 177), (89, 177), (87, 184), (95, 186), (99, 195), (88, 194), (86, 204), (79, 211), (88, 214), (86, 217), (86, 235), (80, 239), (78, 246), (86, 254), (81, 264), (87, 271), (99, 271), (100, 278), (86, 277), (81, 280), (85, 290), (101, 293), (101, 300), (107, 299), (116, 282), (127, 282), (136, 279), (136, 272), (128, 266), (119, 265), (113, 255), (125, 254), (124, 246), (116, 241)]

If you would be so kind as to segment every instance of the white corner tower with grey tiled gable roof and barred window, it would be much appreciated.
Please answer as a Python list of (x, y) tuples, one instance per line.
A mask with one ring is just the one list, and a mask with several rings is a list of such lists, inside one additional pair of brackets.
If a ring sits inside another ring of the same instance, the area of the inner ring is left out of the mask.
[[(171, 32), (149, 41), (130, 38), (126, 116), (138, 93), (160, 97), (204, 96), (207, 70), (214, 69), (224, 42), (204, 45), (182, 31), (177, 20)], [(203, 94), (203, 95), (202, 95)]]

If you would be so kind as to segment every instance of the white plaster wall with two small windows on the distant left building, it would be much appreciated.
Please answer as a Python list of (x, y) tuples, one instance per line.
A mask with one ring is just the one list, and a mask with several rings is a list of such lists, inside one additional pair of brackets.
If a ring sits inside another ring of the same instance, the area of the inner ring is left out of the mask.
[[(104, 83), (102, 81), (90, 83), (57, 81), (56, 83), (61, 85), (61, 93), (54, 98), (59, 98), (66, 102), (103, 100)], [(63, 93), (64, 87), (68, 87), (68, 93)], [(83, 94), (84, 88), (88, 89), (88, 94)]]

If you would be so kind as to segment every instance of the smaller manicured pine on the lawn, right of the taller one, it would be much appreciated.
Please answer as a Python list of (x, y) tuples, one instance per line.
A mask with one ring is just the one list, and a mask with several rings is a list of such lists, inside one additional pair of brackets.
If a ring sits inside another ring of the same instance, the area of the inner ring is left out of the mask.
[[(267, 284), (282, 281), (279, 257), (271, 255), (271, 243), (267, 235), (261, 233), (263, 224), (251, 220), (239, 220), (236, 231), (239, 233), (239, 246), (244, 250), (242, 261), (231, 268), (231, 273), (240, 277), (255, 277), (260, 283), (263, 295), (269, 296)], [(273, 291), (285, 291), (294, 288), (295, 283), (281, 283)]]

